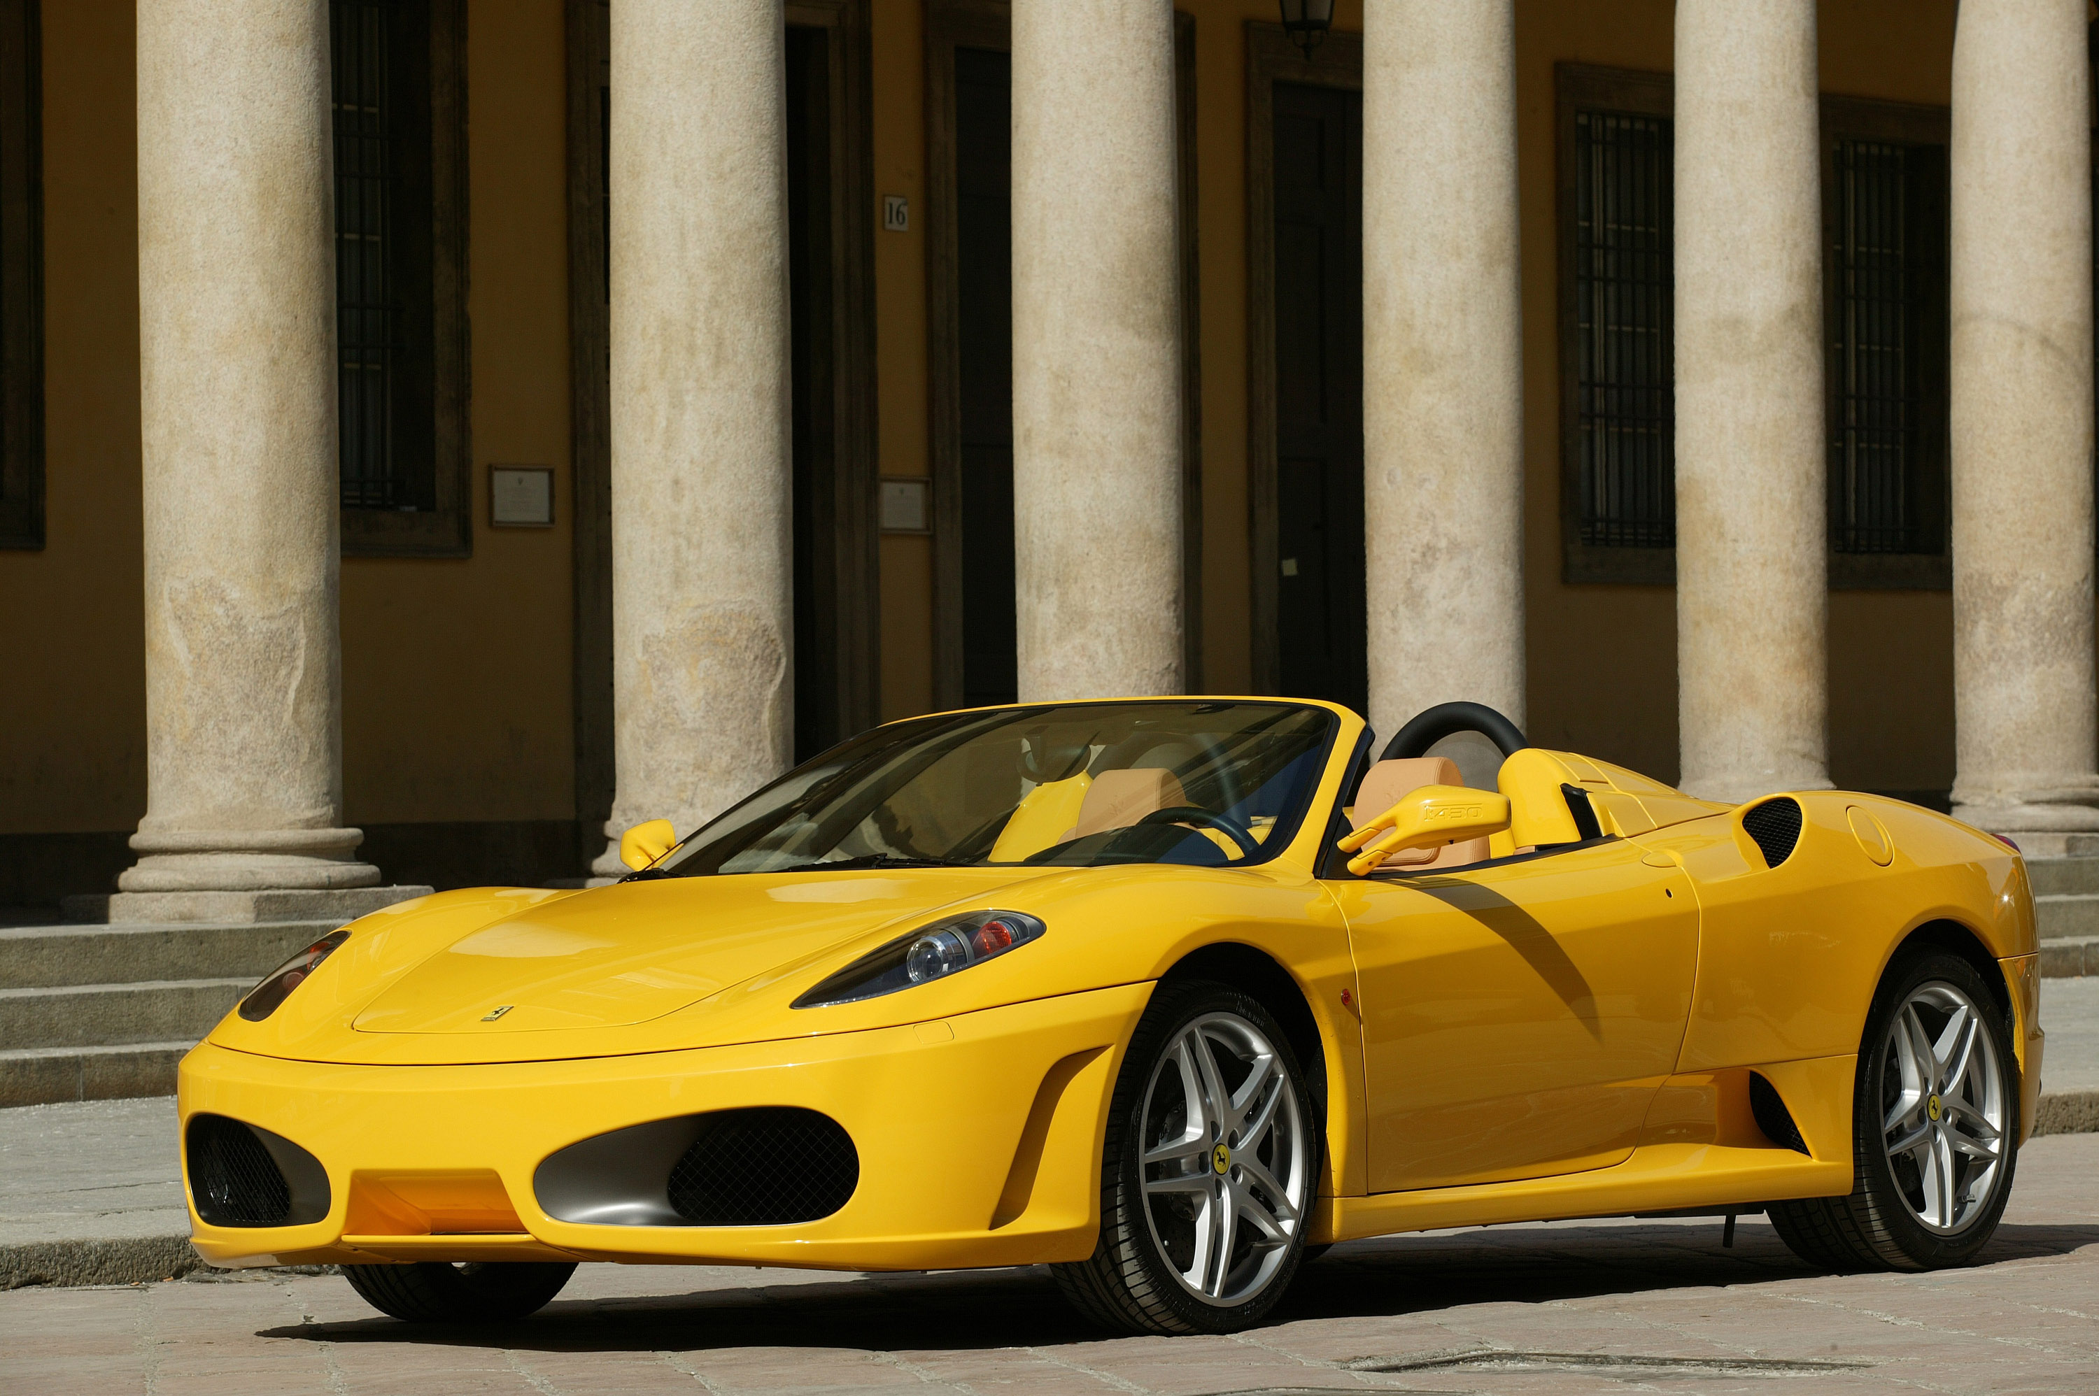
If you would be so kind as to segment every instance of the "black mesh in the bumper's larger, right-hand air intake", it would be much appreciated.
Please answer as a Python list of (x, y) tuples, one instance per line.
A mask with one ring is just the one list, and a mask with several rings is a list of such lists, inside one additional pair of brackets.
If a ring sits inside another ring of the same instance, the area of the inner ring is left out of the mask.
[(766, 1106), (707, 1117), (670, 1169), (670, 1205), (695, 1226), (814, 1222), (861, 1184), (861, 1155), (838, 1121)]

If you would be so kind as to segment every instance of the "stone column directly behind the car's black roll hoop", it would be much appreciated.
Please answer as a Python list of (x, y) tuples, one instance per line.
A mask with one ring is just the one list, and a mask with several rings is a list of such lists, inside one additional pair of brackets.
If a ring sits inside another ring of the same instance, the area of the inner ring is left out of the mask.
[(1362, 487), (1371, 722), (1524, 722), (1524, 348), (1511, 0), (1362, 27)]

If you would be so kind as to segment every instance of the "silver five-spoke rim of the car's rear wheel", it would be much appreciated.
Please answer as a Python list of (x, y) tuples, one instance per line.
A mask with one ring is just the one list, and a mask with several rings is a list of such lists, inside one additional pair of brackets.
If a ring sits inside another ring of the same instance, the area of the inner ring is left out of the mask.
[(1881, 1138), (1921, 1224), (1963, 1230), (1994, 1192), (2005, 1150), (2005, 1073), (1981, 1012), (1944, 980), (1921, 985), (1887, 1027)]

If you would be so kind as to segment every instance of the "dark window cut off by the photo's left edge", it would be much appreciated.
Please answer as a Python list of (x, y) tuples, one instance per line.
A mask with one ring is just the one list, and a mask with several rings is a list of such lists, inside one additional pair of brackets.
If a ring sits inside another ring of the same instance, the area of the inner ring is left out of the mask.
[(44, 229), (36, 0), (0, 0), (0, 548), (44, 546)]

